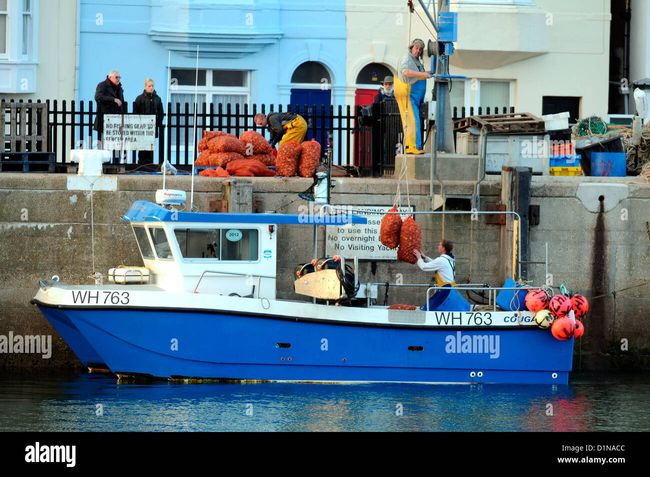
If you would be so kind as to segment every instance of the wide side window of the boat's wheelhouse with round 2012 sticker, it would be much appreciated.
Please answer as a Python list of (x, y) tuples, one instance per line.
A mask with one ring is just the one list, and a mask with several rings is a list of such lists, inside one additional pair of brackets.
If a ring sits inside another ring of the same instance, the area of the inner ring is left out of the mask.
[(228, 262), (256, 262), (259, 232), (256, 228), (175, 228), (183, 258), (208, 258)]

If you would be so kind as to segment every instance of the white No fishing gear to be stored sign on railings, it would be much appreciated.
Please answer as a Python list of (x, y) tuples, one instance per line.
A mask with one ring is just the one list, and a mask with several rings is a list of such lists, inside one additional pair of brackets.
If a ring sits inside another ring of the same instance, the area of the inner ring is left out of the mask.
[(153, 151), (155, 142), (155, 115), (104, 115), (104, 149)]

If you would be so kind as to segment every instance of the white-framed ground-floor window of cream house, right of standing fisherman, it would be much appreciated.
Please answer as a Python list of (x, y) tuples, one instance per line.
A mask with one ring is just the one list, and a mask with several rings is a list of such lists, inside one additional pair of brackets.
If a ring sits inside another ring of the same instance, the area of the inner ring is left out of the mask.
[(515, 82), (507, 79), (478, 79), (467, 78), (452, 80), (452, 88), (449, 93), (449, 101), (454, 112), (457, 107), (457, 115), (461, 117), (462, 107), (465, 107), (465, 116), (469, 116), (470, 107), (474, 108), (474, 114), (478, 114), (478, 107), (486, 114), (486, 107), (494, 113), (495, 107), (510, 109), (514, 102)]

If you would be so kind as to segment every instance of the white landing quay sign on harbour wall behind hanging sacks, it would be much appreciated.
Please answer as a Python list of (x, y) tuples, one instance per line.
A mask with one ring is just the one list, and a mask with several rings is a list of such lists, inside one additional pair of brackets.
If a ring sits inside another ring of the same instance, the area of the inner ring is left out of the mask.
[[(397, 249), (389, 249), (379, 240), (379, 228), (383, 215), (393, 206), (344, 206), (337, 205), (343, 210), (355, 210), (354, 215), (366, 217), (365, 225), (330, 225), (326, 229), (326, 256), (343, 255), (356, 256), (359, 260), (397, 260)], [(359, 210), (365, 211), (359, 212)], [(415, 207), (399, 209), (402, 221), (406, 220)], [(373, 213), (374, 212), (374, 213)], [(379, 213), (376, 213), (379, 212)]]

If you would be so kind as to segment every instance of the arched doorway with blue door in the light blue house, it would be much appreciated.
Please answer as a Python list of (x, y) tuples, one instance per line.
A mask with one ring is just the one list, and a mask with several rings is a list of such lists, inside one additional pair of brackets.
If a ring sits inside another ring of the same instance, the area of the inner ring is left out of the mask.
[[(330, 129), (330, 120), (324, 117), (330, 114), (330, 72), (317, 61), (305, 61), (291, 75), (291, 83), (294, 85), (291, 88), (292, 111), (298, 105), (298, 111), (294, 113), (303, 116), (307, 121), (305, 141), (316, 139), (320, 143), (321, 150), (324, 150), (327, 144), (327, 131)], [(313, 111), (314, 106), (316, 111)], [(321, 115), (321, 106), (324, 106), (324, 115)]]

